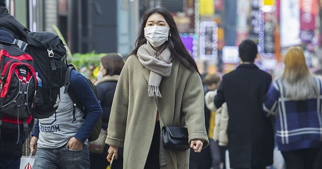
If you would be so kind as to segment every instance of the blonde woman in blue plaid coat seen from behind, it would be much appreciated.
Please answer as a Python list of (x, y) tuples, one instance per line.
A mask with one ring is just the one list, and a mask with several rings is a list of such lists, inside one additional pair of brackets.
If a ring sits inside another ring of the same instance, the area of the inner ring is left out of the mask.
[[(322, 145), (322, 85), (305, 62), (300, 46), (290, 47), (284, 70), (276, 77), (264, 102), (265, 115), (275, 118), (276, 142), (287, 169), (311, 169)], [(315, 167), (315, 168), (320, 168)]]

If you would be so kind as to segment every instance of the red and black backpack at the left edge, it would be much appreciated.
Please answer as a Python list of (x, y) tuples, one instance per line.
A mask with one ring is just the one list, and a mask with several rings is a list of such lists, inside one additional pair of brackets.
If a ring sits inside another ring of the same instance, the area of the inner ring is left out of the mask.
[(0, 40), (0, 129), (17, 131), (18, 141), (21, 132), (27, 138), (33, 119), (37, 88), (33, 66), (34, 59), (29, 54), (14, 43)]

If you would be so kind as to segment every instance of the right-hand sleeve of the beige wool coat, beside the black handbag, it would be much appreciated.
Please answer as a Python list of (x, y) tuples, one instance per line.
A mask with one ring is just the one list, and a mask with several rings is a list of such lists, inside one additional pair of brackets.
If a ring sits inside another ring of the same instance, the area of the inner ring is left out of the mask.
[(209, 144), (205, 127), (204, 92), (199, 74), (193, 72), (188, 78), (182, 100), (182, 112), (189, 132), (189, 143), (192, 140), (203, 140), (203, 148)]

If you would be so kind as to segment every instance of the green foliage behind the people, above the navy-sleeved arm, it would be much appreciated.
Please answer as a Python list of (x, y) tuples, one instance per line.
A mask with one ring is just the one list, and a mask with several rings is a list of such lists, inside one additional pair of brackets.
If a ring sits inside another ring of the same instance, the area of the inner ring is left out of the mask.
[(93, 65), (96, 67), (100, 65), (100, 58), (105, 55), (106, 53), (95, 53), (95, 51), (84, 54), (74, 53), (69, 58), (68, 63), (73, 63), (78, 69), (82, 67), (90, 68)]

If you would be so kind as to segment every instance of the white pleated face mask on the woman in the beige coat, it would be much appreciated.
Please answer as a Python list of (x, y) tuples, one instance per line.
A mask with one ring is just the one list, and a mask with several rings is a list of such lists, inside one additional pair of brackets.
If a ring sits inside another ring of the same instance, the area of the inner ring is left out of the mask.
[(144, 28), (144, 37), (153, 47), (161, 46), (169, 38), (170, 28), (152, 26)]

